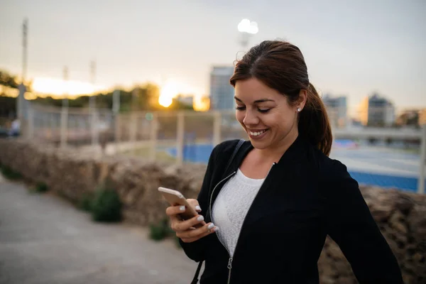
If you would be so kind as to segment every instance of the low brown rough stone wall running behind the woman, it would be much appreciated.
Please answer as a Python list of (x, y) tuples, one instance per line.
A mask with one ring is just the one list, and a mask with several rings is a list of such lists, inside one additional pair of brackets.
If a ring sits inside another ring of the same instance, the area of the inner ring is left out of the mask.
[[(50, 190), (77, 202), (108, 178), (124, 202), (128, 222), (145, 226), (165, 218), (167, 203), (158, 186), (196, 197), (205, 171), (203, 165), (176, 166), (142, 160), (92, 158), (72, 149), (35, 146), (0, 140), (0, 163), (20, 172), (27, 180), (45, 182)], [(398, 258), (406, 284), (426, 283), (426, 195), (398, 190), (361, 187), (383, 235)], [(356, 283), (351, 267), (331, 239), (319, 261), (321, 283)]]

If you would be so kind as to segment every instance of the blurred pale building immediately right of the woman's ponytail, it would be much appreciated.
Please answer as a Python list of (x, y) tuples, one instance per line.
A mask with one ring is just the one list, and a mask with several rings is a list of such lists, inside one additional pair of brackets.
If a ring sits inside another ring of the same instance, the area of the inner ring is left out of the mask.
[(332, 97), (330, 94), (325, 94), (322, 102), (327, 109), (330, 123), (334, 126), (345, 127), (348, 118), (346, 97)]

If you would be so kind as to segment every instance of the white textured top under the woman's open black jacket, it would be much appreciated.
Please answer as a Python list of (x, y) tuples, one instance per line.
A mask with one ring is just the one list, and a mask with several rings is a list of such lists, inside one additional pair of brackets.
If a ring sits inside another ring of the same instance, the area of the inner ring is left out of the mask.
[(219, 227), (217, 235), (222, 244), (234, 256), (241, 225), (263, 180), (247, 178), (241, 170), (226, 182), (217, 195), (212, 208), (212, 222)]

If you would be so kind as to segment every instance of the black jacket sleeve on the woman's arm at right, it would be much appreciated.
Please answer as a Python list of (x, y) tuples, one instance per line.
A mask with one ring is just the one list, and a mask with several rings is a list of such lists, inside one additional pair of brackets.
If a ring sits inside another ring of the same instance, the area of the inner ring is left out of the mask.
[(403, 283), (398, 261), (381, 234), (356, 180), (337, 160), (327, 174), (327, 229), (361, 284)]

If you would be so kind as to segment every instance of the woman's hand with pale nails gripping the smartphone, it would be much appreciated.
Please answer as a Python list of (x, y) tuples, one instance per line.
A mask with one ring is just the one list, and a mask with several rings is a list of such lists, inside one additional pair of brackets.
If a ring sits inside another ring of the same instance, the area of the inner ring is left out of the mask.
[[(187, 202), (195, 207), (197, 212), (201, 212), (201, 208), (197, 200), (187, 200)], [(171, 228), (176, 232), (176, 236), (182, 239), (183, 242), (192, 243), (192, 241), (197, 241), (202, 237), (219, 230), (219, 228), (214, 226), (213, 223), (206, 224), (202, 215), (197, 215), (191, 219), (182, 221), (182, 219), (179, 217), (179, 214), (182, 214), (185, 211), (185, 206), (170, 206), (165, 209), (165, 214), (170, 217), (172, 222)], [(201, 226), (195, 228), (197, 224), (200, 224)]]

